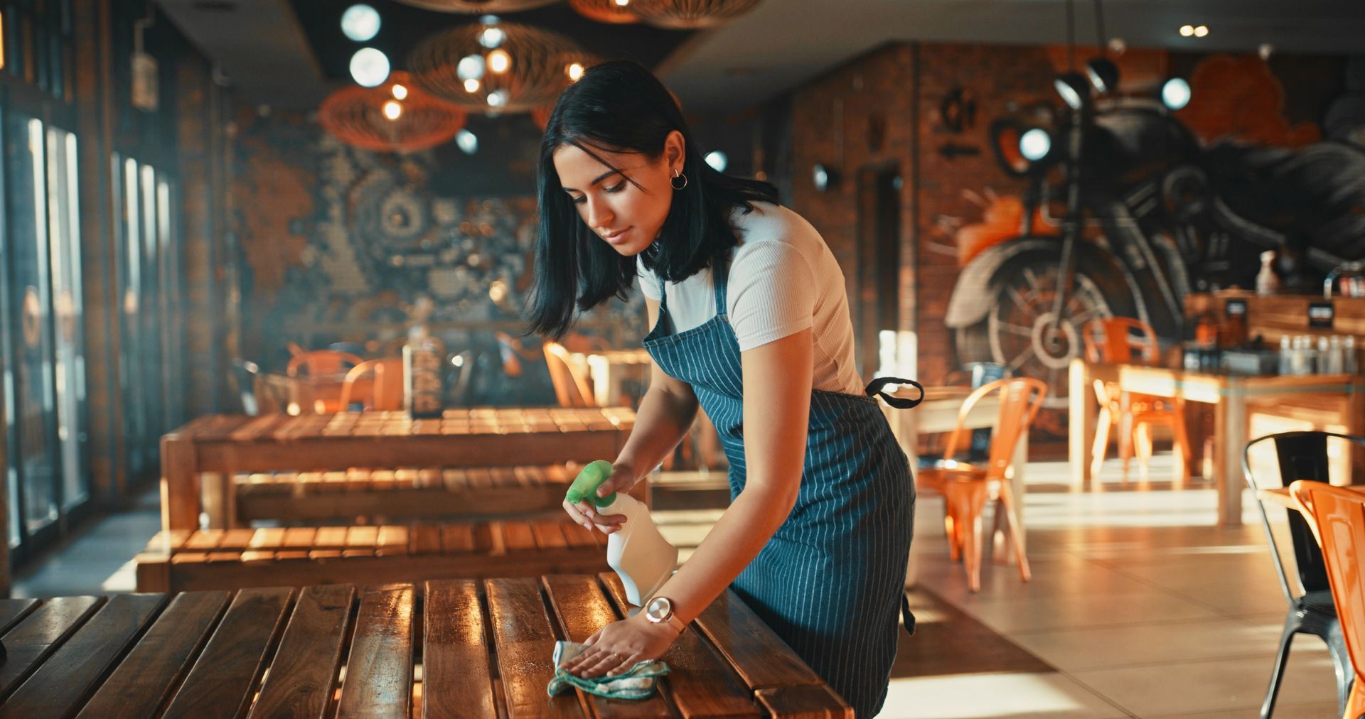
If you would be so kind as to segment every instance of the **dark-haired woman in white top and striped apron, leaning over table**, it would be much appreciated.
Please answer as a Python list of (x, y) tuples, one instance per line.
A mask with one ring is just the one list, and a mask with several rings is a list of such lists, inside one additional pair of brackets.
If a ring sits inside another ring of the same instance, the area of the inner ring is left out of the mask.
[[(730, 461), (730, 508), (654, 595), (672, 617), (612, 623), (565, 667), (598, 677), (659, 659), (729, 587), (875, 715), (895, 658), (915, 486), (861, 392), (829, 247), (771, 186), (711, 169), (669, 91), (635, 63), (597, 65), (564, 91), (539, 169), (532, 329), (562, 336), (575, 308), (624, 297), (636, 277), (648, 308), (650, 389), (599, 494), (657, 467), (699, 404)], [(564, 509), (588, 531), (624, 520), (586, 502)]]

